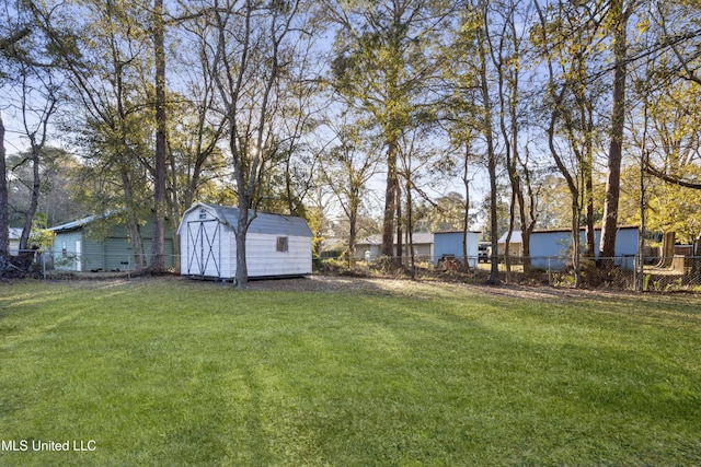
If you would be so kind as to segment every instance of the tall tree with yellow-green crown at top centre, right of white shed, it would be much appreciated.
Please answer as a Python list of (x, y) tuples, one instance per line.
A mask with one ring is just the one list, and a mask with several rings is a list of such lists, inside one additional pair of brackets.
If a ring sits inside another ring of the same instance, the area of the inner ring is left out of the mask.
[(429, 96), (441, 63), (434, 46), (457, 5), (430, 0), (391, 0), (370, 8), (355, 1), (327, 1), (326, 5), (330, 17), (341, 26), (334, 44), (334, 86), (375, 119), (384, 140), (382, 254), (399, 256), (401, 248), (393, 248), (395, 220), (401, 218), (399, 143), (412, 114), (424, 109), (417, 104)]

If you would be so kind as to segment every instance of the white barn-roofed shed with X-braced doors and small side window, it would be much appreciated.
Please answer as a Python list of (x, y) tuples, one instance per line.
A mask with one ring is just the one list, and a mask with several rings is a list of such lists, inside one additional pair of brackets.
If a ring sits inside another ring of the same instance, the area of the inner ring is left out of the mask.
[[(253, 215), (253, 214), (252, 214)], [(177, 233), (181, 273), (233, 280), (237, 273), (234, 226), (238, 208), (196, 203), (183, 214)], [(301, 218), (257, 212), (246, 233), (249, 278), (311, 273), (312, 233)]]

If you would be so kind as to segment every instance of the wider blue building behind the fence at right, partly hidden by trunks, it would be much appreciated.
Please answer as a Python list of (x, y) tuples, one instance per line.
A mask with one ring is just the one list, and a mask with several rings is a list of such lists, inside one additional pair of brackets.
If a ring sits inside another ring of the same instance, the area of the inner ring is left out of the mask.
[[(625, 270), (634, 268), (634, 257), (637, 255), (639, 229), (636, 226), (621, 226), (616, 232), (616, 265)], [(584, 229), (579, 233), (582, 246), (585, 244)], [(601, 238), (601, 230), (594, 232), (595, 244)], [(570, 262), (572, 247), (572, 231), (567, 229), (535, 231), (530, 235), (531, 265), (540, 269), (563, 269)], [(596, 257), (598, 258), (598, 248)]]

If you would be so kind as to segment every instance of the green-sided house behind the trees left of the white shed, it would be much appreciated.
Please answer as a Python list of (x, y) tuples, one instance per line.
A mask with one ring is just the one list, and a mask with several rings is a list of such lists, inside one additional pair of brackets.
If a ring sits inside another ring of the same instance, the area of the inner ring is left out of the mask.
[[(56, 235), (51, 248), (54, 267), (69, 271), (127, 271), (136, 269), (129, 231), (125, 223), (110, 215), (89, 215), (50, 227)], [(153, 243), (153, 221), (141, 225), (146, 255)], [(165, 267), (173, 268), (173, 233), (165, 231)]]

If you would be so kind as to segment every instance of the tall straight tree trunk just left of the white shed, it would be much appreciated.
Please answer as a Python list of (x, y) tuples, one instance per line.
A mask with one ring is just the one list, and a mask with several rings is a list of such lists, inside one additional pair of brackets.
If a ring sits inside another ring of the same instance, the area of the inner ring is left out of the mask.
[(153, 48), (156, 55), (156, 174), (153, 243), (151, 247), (152, 271), (165, 269), (163, 244), (165, 232), (165, 49), (163, 0), (153, 0)]

